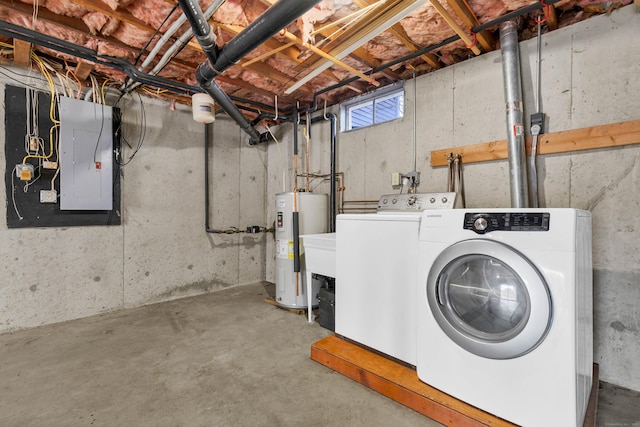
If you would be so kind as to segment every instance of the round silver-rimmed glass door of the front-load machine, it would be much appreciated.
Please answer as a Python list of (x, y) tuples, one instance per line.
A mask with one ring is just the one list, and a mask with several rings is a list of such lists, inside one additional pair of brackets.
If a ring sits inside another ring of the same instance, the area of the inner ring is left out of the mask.
[(530, 352), (551, 326), (549, 287), (540, 272), (520, 252), (492, 240), (445, 249), (429, 272), (427, 299), (451, 340), (490, 359)]

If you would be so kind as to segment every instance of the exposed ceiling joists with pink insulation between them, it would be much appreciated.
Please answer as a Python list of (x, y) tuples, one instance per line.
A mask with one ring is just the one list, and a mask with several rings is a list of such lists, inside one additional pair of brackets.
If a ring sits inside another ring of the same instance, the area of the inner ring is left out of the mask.
[[(202, 8), (211, 2), (203, 0)], [(495, 50), (497, 24), (490, 24), (510, 14), (521, 15), (521, 38), (527, 38), (535, 35), (535, 19), (542, 14), (546, 32), (631, 2), (324, 0), (216, 80), (239, 104), (246, 100), (246, 105), (273, 106), (277, 96), (283, 108), (310, 105), (317, 98), (331, 105), (378, 85)], [(235, 37), (273, 3), (275, 0), (224, 2), (209, 21), (217, 44), (222, 46)], [(18, 25), (107, 58), (96, 63), (91, 58), (43, 49), (37, 40), (32, 44), (5, 33), (0, 41), (13, 45), (13, 49), (2, 49), (0, 62), (29, 67), (30, 49), (34, 49), (58, 57), (61, 66), (70, 67), (81, 80), (94, 74), (101, 81), (108, 78), (124, 87), (127, 75), (122, 67), (110, 67), (110, 61), (116, 58), (138, 67), (136, 59), (139, 63), (147, 58), (181, 13), (176, 0), (0, 0), (0, 32), (6, 27), (4, 23)], [(161, 53), (188, 29), (184, 24), (168, 37)], [(175, 82), (177, 89), (158, 96), (186, 103), (184, 95), (197, 90), (194, 73), (205, 55), (195, 39), (178, 52), (157, 77)], [(158, 61), (153, 59), (147, 68)], [(167, 87), (171, 89), (171, 85)]]

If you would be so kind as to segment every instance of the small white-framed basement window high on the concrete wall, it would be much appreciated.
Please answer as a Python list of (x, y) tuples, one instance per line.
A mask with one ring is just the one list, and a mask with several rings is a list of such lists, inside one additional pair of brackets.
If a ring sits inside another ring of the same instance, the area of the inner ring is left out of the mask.
[(404, 87), (391, 85), (352, 98), (340, 106), (342, 131), (399, 119), (404, 115)]

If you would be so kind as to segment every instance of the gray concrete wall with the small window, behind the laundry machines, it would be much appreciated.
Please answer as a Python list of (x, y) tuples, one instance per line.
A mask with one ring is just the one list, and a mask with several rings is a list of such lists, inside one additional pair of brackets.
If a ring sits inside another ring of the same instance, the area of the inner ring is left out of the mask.
[[(640, 119), (638, 28), (640, 14), (628, 6), (543, 36), (542, 97), (550, 132)], [(534, 110), (536, 41), (521, 43), (520, 49), (528, 117)], [(430, 167), (431, 150), (506, 138), (500, 52), (418, 77), (417, 83), (419, 191), (444, 191), (447, 171)], [(377, 200), (396, 191), (391, 172), (412, 169), (413, 84), (405, 86), (403, 119), (339, 135), (338, 170), (346, 174), (347, 199)], [(310, 149), (311, 170), (327, 173), (328, 126), (316, 128), (320, 142)], [(288, 152), (291, 126), (278, 131), (281, 149)], [(269, 150), (271, 161), (276, 147)], [(635, 390), (640, 390), (639, 163), (637, 145), (539, 158), (542, 206), (593, 214), (595, 360), (602, 380)], [(289, 159), (284, 167), (290, 165)], [(269, 165), (269, 218), (282, 168)], [(467, 206), (510, 206), (508, 172), (506, 161), (466, 165)], [(273, 280), (271, 246), (267, 280)]]

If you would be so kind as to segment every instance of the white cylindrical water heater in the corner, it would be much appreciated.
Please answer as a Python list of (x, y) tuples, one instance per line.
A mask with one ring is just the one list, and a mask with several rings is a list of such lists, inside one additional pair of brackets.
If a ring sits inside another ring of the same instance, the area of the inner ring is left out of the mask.
[[(300, 272), (295, 272), (294, 212), (297, 212), (298, 235), (326, 233), (329, 219), (327, 205), (326, 194), (276, 194), (276, 302), (283, 307), (307, 307), (305, 257), (300, 238)], [(316, 296), (319, 289), (320, 281), (315, 281), (311, 291), (314, 306), (318, 305)]]

